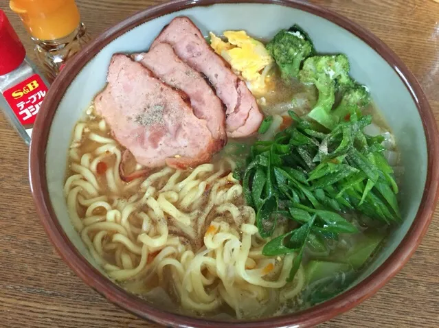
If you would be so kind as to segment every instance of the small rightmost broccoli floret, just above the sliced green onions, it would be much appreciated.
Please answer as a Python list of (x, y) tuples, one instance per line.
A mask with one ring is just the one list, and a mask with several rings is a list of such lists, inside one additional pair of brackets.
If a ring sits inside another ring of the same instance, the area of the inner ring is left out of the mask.
[(360, 111), (370, 104), (369, 91), (360, 84), (354, 84), (341, 97), (340, 104), (331, 113), (337, 121), (349, 119), (351, 115), (360, 116)]

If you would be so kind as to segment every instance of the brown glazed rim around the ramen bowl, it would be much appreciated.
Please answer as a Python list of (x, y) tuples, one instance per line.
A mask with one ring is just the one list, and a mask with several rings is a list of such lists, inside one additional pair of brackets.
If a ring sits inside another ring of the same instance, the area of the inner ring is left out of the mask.
[[(396, 248), (394, 253), (392, 253), (392, 255), (390, 255), (390, 257), (379, 266), (379, 268), (372, 272), (369, 277), (361, 281), (361, 283), (329, 301), (295, 314), (262, 320), (224, 322), (193, 318), (156, 309), (152, 305), (148, 305), (148, 303), (142, 301), (140, 298), (128, 294), (128, 292), (125, 292), (114, 283), (109, 283), (109, 279), (93, 268), (93, 266), (91, 266), (91, 264), (82, 257), (80, 253), (78, 253), (78, 250), (76, 250), (75, 246), (69, 241), (67, 235), (65, 235), (60, 226), (49, 199), (45, 172), (45, 154), (49, 129), (60, 100), (63, 98), (67, 87), (71, 81), (74, 80), (82, 67), (89, 62), (95, 54), (98, 54), (98, 51), (100, 51), (102, 47), (141, 23), (150, 21), (151, 19), (155, 19), (158, 16), (170, 12), (176, 12), (201, 5), (213, 5), (216, 3), (272, 3), (284, 5), (305, 12), (310, 12), (311, 14), (315, 14), (339, 25), (344, 28), (344, 30), (348, 30), (372, 47), (372, 49), (384, 58), (394, 71), (396, 71), (402, 82), (407, 87), (407, 90), (412, 95), (423, 121), (425, 137), (427, 140), (427, 180), (416, 218), (403, 241), (398, 248)], [(372, 296), (387, 281), (394, 277), (394, 275), (401, 270), (412, 256), (417, 246), (420, 244), (423, 235), (425, 235), (427, 231), (438, 199), (439, 165), (434, 165), (434, 159), (437, 158), (439, 154), (438, 145), (439, 138), (436, 120), (431, 113), (427, 97), (423, 93), (418, 81), (403, 64), (401, 59), (399, 59), (398, 56), (396, 56), (396, 54), (394, 54), (394, 52), (383, 43), (383, 41), (363, 29), (360, 25), (357, 25), (357, 23), (353, 23), (344, 16), (331, 12), (326, 8), (321, 8), (317, 5), (299, 0), (177, 0), (147, 8), (142, 12), (134, 14), (128, 19), (125, 19), (121, 23), (110, 27), (108, 30), (100, 34), (100, 36), (93, 39), (91, 43), (80, 52), (80, 54), (77, 54), (71, 59), (69, 65), (63, 69), (58, 78), (56, 78), (52, 84), (52, 87), (49, 89), (45, 101), (43, 102), (43, 106), (40, 109), (40, 113), (38, 114), (38, 118), (36, 119), (30, 146), (29, 174), (36, 210), (41, 218), (41, 222), (49, 239), (58, 250), (58, 253), (60, 253), (61, 257), (63, 257), (70, 268), (74, 270), (74, 272), (85, 281), (87, 285), (100, 292), (100, 294), (105, 296), (112, 303), (126, 309), (128, 312), (148, 320), (153, 320), (162, 325), (168, 325), (168, 327), (229, 328), (234, 327), (234, 325), (240, 325), (240, 327), (243, 328), (292, 327), (291, 325), (294, 325), (294, 327), (310, 327), (346, 312), (364, 301), (366, 298)]]

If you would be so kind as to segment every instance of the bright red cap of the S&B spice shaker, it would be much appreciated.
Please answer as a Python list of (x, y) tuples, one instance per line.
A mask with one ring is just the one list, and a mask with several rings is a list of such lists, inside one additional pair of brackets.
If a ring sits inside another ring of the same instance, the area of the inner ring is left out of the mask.
[(26, 51), (5, 12), (0, 9), (0, 75), (14, 71), (23, 62)]

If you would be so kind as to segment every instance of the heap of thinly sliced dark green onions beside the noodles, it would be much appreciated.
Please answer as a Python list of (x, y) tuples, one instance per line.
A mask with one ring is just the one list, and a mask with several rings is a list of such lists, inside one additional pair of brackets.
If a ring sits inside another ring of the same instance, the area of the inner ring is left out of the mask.
[(262, 237), (273, 235), (280, 215), (295, 222), (295, 229), (271, 239), (262, 252), (296, 253), (291, 280), (308, 242), (319, 248), (321, 240), (358, 233), (341, 213), (358, 211), (383, 224), (398, 222), (401, 215), (393, 171), (382, 154), (383, 140), (363, 133), (370, 116), (358, 118), (353, 112), (348, 121), (322, 132), (295, 113), (289, 115), (293, 119), (289, 128), (273, 141), (251, 146), (243, 192), (256, 211)]

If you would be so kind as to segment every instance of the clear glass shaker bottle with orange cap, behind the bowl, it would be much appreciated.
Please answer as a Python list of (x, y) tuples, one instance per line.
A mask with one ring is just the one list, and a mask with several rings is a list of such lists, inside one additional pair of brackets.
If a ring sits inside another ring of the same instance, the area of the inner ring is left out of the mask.
[(38, 64), (49, 82), (90, 40), (74, 0), (11, 0), (10, 8), (35, 43)]

